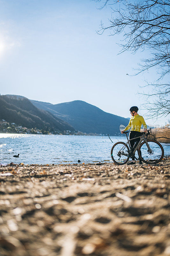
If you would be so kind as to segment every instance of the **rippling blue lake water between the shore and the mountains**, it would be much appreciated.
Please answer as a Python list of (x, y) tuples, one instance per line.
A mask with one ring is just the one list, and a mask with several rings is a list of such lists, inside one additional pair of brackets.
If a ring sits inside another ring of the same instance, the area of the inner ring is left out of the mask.
[[(125, 135), (110, 138), (113, 143), (127, 142)], [(113, 143), (107, 136), (0, 133), (0, 164), (73, 164), (78, 159), (81, 163), (112, 162)], [(162, 145), (165, 155), (170, 155), (170, 144)], [(19, 158), (13, 157), (18, 153)]]

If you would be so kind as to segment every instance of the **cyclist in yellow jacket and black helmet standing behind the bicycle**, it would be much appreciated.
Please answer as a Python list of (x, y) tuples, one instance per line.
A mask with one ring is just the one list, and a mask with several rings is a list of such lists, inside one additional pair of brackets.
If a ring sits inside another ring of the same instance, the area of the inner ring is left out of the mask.
[[(140, 128), (141, 128), (141, 125), (143, 124), (144, 126), (144, 131), (146, 131), (147, 129), (147, 126), (146, 126), (146, 123), (145, 123), (145, 120), (143, 118), (143, 116), (139, 116), (138, 115), (138, 107), (136, 106), (133, 106), (130, 108), (130, 112), (131, 112), (131, 119), (129, 121), (129, 124), (128, 126), (126, 126), (126, 128), (121, 131), (121, 133), (127, 131), (128, 129), (131, 128), (131, 131), (130, 131), (130, 134), (129, 134), (129, 139), (130, 139), (130, 145), (131, 145), (131, 148), (133, 150), (133, 146), (135, 145), (136, 142), (139, 142), (140, 138), (136, 139), (136, 140), (131, 140), (135, 137), (139, 137), (141, 136), (141, 132), (140, 132)], [(141, 152), (140, 152), (141, 153)], [(135, 157), (132, 157), (132, 162), (130, 163), (127, 163), (127, 164), (135, 164)], [(142, 162), (139, 160), (139, 164), (142, 164)]]

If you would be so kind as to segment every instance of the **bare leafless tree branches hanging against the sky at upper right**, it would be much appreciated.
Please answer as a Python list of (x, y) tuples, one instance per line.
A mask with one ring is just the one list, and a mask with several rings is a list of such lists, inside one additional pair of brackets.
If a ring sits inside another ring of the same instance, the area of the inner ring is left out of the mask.
[[(102, 3), (101, 9), (110, 5), (111, 18), (109, 25), (101, 28), (98, 33), (110, 30), (110, 35), (123, 33), (124, 40), (120, 44), (121, 52), (138, 49), (149, 49), (151, 57), (142, 60), (137, 73), (155, 68), (158, 79), (152, 86), (152, 94), (145, 94), (148, 100), (145, 108), (152, 117), (167, 116), (170, 113), (170, 85), (162, 84), (170, 72), (170, 0), (93, 0)], [(153, 100), (154, 99), (154, 100)]]

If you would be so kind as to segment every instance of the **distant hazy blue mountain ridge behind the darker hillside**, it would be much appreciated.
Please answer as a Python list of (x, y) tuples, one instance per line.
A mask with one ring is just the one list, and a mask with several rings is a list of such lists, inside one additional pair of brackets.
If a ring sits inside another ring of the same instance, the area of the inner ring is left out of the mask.
[(76, 130), (86, 133), (118, 135), (119, 126), (127, 126), (128, 119), (113, 115), (82, 100), (73, 100), (59, 104), (31, 100), (39, 108), (48, 109), (55, 116), (71, 124)]

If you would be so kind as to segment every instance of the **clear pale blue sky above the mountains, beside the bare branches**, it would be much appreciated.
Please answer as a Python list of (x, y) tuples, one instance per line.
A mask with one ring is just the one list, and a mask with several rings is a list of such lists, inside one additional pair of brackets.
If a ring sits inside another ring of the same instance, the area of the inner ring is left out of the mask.
[(117, 55), (122, 36), (96, 33), (110, 13), (89, 0), (0, 1), (0, 93), (53, 104), (84, 100), (129, 117), (129, 108), (142, 103), (139, 85), (154, 72), (126, 75), (143, 53)]

